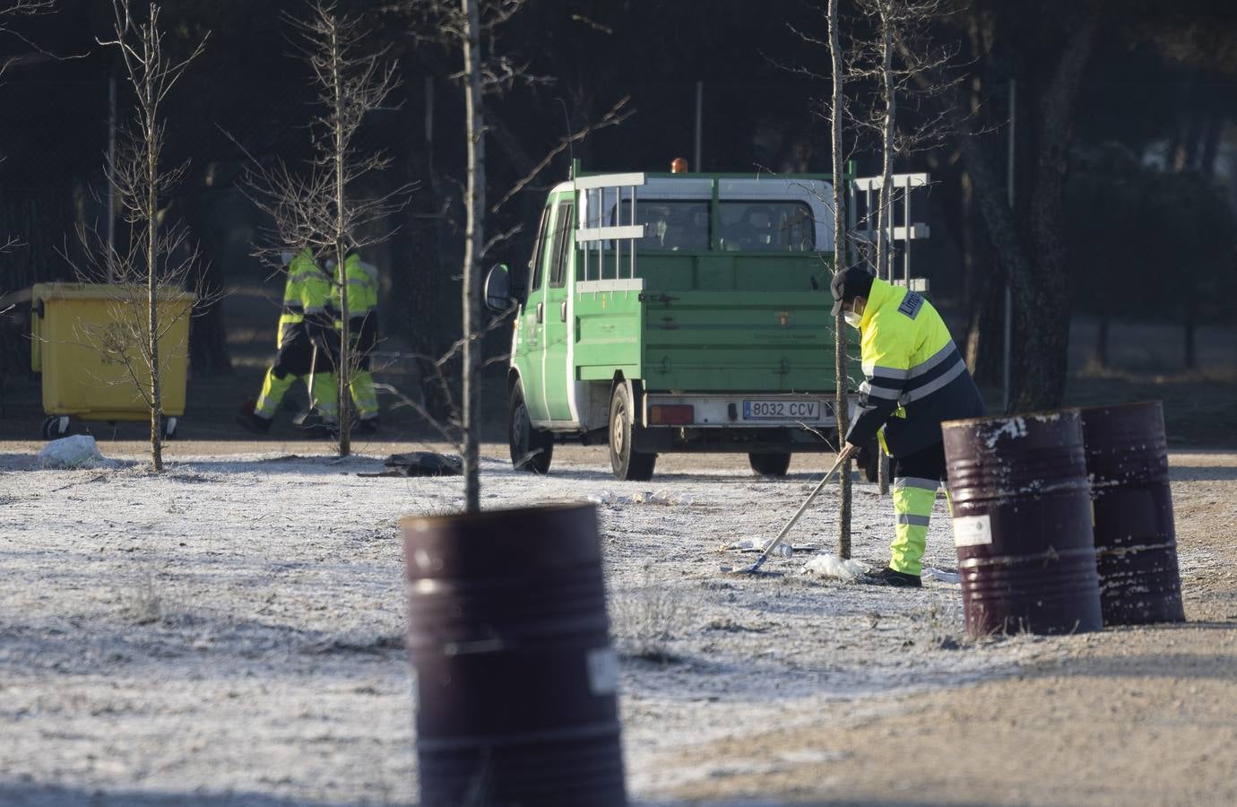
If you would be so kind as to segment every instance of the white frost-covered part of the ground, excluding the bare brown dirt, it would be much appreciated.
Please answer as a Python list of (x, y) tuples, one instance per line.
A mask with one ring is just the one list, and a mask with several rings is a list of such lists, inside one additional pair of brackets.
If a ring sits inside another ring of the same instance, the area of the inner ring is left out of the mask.
[[(397, 522), (456, 510), (458, 478), (365, 478), (381, 457), (275, 453), (177, 457), (160, 477), (36, 470), (12, 451), (0, 448), (0, 802), (414, 800)], [(693, 749), (811, 725), (840, 702), (888, 712), (882, 696), (1008, 676), (1085, 641), (967, 642), (959, 585), (821, 579), (799, 573), (803, 553), (771, 559), (779, 576), (722, 574), (756, 556), (719, 547), (774, 535), (824, 458), (784, 480), (674, 458), (652, 483), (617, 483), (597, 449), (560, 449), (546, 478), (499, 451), (486, 509), (625, 500), (599, 514), (640, 803), (736, 772)], [(690, 503), (626, 501), (649, 491)], [(829, 548), (835, 505), (823, 494), (794, 542)], [(943, 501), (935, 515), (928, 562), (952, 569)], [(875, 486), (856, 488), (854, 522), (856, 557), (883, 562), (892, 516)], [(1183, 547), (1181, 561), (1215, 558)], [(835, 761), (813, 754), (742, 766)]]

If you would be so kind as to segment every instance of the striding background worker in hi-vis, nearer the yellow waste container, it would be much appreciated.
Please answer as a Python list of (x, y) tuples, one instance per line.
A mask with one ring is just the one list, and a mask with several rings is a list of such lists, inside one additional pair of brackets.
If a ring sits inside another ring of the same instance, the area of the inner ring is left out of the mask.
[[(252, 405), (246, 402), (236, 415), (240, 426), (259, 434), (271, 429), (283, 395), (299, 378), (306, 378), (306, 386), (312, 387), (308, 389), (310, 406), (317, 407), (323, 421), (329, 426), (338, 420), (339, 396), (325, 350), (332, 332), (332, 317), (327, 311), (330, 280), (314, 262), (313, 251), (308, 248), (286, 257), (289, 259), (288, 280), (283, 286), (283, 311), (275, 342), (280, 353), (266, 371), (257, 401)], [(307, 378), (310, 373), (312, 379)]]

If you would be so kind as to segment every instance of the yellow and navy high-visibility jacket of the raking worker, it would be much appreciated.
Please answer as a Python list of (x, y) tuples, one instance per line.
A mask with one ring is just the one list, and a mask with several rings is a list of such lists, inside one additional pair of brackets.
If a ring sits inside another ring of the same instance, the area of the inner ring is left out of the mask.
[(884, 446), (905, 457), (941, 441), (941, 421), (981, 417), (983, 400), (949, 328), (923, 295), (872, 281), (860, 319), (863, 382), (846, 442), (884, 426)]

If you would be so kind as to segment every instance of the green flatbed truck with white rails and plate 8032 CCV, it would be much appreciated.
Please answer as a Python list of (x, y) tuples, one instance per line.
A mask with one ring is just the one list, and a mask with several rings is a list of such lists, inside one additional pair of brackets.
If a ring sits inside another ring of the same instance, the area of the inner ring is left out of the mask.
[(606, 441), (618, 479), (649, 479), (669, 452), (743, 452), (783, 475), (792, 453), (836, 449), (831, 198), (820, 175), (554, 187), (527, 271), (486, 278), (492, 311), (517, 304), (513, 465), (547, 473), (575, 439)]

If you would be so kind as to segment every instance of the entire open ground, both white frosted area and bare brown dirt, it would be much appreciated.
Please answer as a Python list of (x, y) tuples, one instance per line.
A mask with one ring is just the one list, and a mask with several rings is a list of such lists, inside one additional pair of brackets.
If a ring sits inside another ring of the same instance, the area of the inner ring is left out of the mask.
[[(37, 470), (40, 446), (0, 443), (0, 803), (414, 801), (396, 522), (458, 506), (458, 480), (356, 477), (412, 444), (174, 443), (161, 478)], [(719, 543), (774, 531), (821, 457), (784, 480), (669, 457), (636, 484), (599, 448), (546, 478), (502, 454), (487, 507), (620, 499), (599, 515), (633, 803), (1237, 802), (1235, 453), (1170, 455), (1186, 624), (981, 642), (955, 584), (819, 579), (802, 556), (719, 574)], [(314, 511), (324, 485), (353, 507)], [(646, 489), (682, 504), (630, 503)], [(828, 545), (831, 511), (799, 541)], [(936, 516), (927, 561), (949, 569)], [(858, 558), (883, 559), (888, 519), (860, 485)]]

